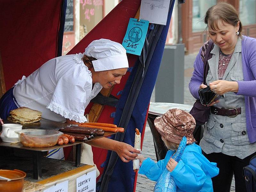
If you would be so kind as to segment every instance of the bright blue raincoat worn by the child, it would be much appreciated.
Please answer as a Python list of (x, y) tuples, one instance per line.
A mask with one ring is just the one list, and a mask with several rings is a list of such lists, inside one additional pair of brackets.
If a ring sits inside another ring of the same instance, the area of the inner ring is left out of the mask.
[[(169, 150), (163, 160), (155, 163), (147, 158), (140, 167), (140, 174), (157, 181), (164, 171), (174, 151)], [(211, 163), (202, 155), (202, 149), (195, 143), (188, 144), (180, 162), (171, 172), (177, 185), (177, 192), (213, 192), (212, 177), (219, 174), (216, 163)]]

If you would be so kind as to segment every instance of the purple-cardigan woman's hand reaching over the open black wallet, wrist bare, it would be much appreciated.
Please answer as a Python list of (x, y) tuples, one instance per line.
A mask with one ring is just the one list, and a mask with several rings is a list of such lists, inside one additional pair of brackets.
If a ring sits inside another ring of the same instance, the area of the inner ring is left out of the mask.
[(238, 83), (236, 81), (217, 80), (210, 83), (213, 92), (223, 95), (227, 92), (238, 92)]

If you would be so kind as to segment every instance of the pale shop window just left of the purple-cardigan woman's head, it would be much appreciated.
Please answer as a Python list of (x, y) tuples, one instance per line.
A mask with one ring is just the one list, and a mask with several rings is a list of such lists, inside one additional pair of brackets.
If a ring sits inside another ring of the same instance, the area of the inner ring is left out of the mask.
[(204, 15), (206, 11), (215, 4), (216, 0), (193, 0), (192, 32), (203, 31), (206, 28)]

